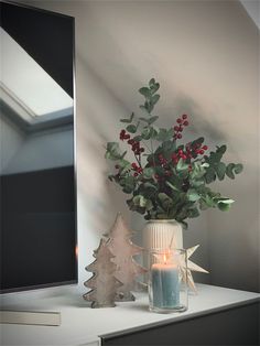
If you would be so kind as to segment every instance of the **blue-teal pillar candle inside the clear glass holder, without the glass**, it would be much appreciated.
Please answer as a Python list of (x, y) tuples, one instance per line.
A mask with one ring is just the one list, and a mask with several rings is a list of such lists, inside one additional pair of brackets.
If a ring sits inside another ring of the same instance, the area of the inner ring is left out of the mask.
[(172, 263), (154, 263), (151, 269), (153, 306), (174, 309), (180, 306), (177, 267)]

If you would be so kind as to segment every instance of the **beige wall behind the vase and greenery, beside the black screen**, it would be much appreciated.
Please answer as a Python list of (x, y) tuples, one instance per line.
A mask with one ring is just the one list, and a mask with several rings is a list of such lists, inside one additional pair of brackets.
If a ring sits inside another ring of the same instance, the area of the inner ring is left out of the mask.
[[(36, 1), (76, 18), (76, 100), (80, 282), (99, 236), (124, 208), (106, 181), (102, 145), (118, 119), (141, 101), (138, 88), (160, 80), (162, 125), (192, 115), (187, 136), (227, 143), (238, 179), (216, 184), (236, 204), (189, 224), (186, 245), (215, 284), (258, 290), (259, 31), (238, 1)], [(131, 215), (134, 220), (136, 216)], [(133, 223), (137, 228), (139, 224)]]

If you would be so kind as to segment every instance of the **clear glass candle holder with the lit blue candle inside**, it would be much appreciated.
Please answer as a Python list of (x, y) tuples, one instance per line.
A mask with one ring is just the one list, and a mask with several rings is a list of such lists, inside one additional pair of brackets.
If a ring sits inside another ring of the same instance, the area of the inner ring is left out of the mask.
[(156, 313), (186, 311), (188, 306), (186, 250), (152, 250), (149, 267), (150, 311)]

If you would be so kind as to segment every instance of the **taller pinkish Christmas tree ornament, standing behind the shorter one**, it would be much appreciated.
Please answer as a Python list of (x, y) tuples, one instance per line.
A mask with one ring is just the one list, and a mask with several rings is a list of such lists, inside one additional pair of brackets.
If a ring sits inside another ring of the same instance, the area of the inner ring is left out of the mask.
[(115, 256), (112, 262), (116, 264), (115, 277), (122, 283), (118, 286), (116, 301), (133, 301), (133, 290), (143, 289), (143, 284), (137, 282), (137, 277), (147, 270), (137, 263), (133, 256), (143, 249), (131, 241), (132, 231), (127, 227), (121, 214), (117, 215), (108, 237), (108, 247)]

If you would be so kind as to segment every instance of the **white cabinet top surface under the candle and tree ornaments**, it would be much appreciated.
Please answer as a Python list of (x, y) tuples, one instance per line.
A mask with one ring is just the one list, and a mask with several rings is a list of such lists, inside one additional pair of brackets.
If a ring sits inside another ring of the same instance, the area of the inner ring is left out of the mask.
[[(1, 328), (1, 345), (99, 345), (99, 336), (120, 335), (154, 325), (174, 323), (260, 300), (260, 294), (199, 284), (198, 294), (189, 295), (184, 313), (155, 314), (148, 310), (148, 295), (136, 294), (136, 302), (116, 307), (89, 309), (82, 296), (55, 296), (37, 302), (37, 309), (57, 311), (61, 326), (8, 325)], [(35, 302), (34, 302), (35, 306)], [(30, 310), (30, 304), (28, 306)]]

